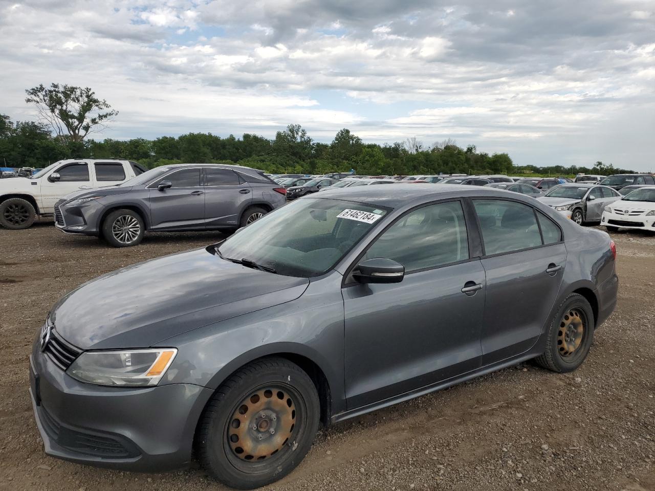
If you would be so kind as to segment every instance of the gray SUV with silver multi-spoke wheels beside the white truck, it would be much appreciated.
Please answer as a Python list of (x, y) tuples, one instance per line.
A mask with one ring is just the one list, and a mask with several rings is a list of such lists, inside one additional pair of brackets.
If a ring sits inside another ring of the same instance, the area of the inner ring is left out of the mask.
[(95, 235), (115, 247), (136, 245), (146, 230), (244, 227), (286, 202), (286, 189), (241, 166), (157, 167), (101, 189), (73, 192), (54, 205), (57, 228)]

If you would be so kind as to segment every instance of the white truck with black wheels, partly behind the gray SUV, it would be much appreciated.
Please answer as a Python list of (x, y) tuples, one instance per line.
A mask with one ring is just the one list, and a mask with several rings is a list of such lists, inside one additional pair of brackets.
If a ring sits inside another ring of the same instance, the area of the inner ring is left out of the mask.
[(31, 177), (0, 179), (0, 225), (28, 228), (37, 217), (52, 215), (66, 194), (114, 186), (142, 172), (145, 168), (130, 160), (76, 158), (55, 162)]

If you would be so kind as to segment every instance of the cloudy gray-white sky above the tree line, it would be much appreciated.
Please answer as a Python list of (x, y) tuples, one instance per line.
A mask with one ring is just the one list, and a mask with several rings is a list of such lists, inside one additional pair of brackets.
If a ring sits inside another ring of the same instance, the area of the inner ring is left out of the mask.
[(655, 170), (654, 0), (0, 0), (0, 74), (18, 120), (26, 88), (90, 86), (101, 137), (299, 123)]

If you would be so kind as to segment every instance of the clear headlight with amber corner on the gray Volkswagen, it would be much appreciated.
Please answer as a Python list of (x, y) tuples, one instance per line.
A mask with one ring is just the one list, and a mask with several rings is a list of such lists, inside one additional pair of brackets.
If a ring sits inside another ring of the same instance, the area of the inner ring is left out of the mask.
[(67, 373), (101, 386), (155, 386), (176, 354), (175, 348), (85, 352)]

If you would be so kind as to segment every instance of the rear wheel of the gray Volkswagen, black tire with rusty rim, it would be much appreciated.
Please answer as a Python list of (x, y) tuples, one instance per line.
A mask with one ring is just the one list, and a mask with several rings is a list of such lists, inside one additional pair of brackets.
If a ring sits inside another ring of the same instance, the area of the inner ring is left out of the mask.
[[(567, 349), (574, 346), (575, 342), (569, 342), (567, 330), (576, 322), (576, 316), (582, 321), (582, 334), (578, 346), (568, 352)], [(594, 329), (593, 310), (588, 300), (578, 293), (571, 293), (557, 309), (548, 328), (546, 350), (535, 359), (536, 363), (557, 373), (574, 371), (582, 365), (589, 353)]]

